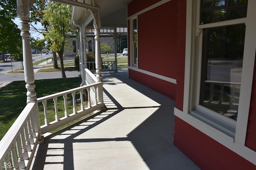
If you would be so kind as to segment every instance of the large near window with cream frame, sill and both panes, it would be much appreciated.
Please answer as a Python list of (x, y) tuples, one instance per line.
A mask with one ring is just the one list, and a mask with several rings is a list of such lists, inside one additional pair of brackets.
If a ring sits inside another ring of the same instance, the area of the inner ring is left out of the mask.
[(256, 1), (186, 3), (183, 108), (174, 108), (174, 115), (255, 164), (251, 158), (256, 153), (245, 146), (245, 140), (255, 61)]

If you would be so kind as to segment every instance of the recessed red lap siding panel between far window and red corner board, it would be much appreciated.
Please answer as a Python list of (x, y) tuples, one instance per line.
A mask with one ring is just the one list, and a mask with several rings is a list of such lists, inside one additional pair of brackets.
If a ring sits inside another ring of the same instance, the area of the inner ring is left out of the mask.
[(177, 0), (138, 16), (138, 68), (176, 79)]

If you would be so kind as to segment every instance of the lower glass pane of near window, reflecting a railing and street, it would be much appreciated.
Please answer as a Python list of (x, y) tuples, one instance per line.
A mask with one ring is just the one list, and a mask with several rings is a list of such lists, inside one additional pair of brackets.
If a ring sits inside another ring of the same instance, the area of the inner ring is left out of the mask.
[(203, 29), (199, 104), (237, 118), (245, 25)]

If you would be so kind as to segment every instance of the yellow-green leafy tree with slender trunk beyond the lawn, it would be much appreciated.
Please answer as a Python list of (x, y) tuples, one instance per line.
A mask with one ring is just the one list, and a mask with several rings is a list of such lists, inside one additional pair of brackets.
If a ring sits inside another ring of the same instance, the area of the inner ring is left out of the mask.
[(63, 64), (64, 49), (70, 49), (70, 42), (66, 40), (66, 37), (69, 37), (72, 32), (70, 29), (71, 10), (71, 6), (48, 2), (46, 9), (43, 11), (44, 18), (42, 22), (48, 22), (45, 39), (51, 42), (49, 49), (58, 53), (60, 57), (62, 78), (66, 78)]

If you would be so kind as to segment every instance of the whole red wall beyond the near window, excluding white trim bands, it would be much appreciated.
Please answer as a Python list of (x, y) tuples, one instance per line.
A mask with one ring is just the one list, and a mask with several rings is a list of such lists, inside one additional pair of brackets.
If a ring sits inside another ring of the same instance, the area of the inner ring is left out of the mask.
[[(128, 5), (128, 16), (159, 1), (134, 0)], [(177, 84), (129, 70), (129, 78), (176, 100), (179, 109), (183, 105), (185, 37), (186, 0), (171, 0), (138, 15), (138, 68), (174, 78)]]

